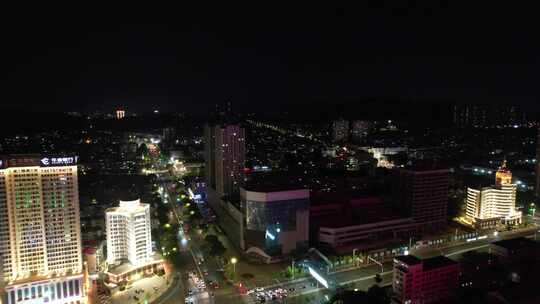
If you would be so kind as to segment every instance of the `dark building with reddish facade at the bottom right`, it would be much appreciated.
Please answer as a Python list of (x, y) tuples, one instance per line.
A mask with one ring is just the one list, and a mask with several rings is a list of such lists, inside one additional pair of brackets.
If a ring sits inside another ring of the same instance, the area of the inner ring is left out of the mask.
[(411, 255), (394, 258), (392, 303), (424, 304), (455, 300), (459, 264), (445, 256), (420, 260)]

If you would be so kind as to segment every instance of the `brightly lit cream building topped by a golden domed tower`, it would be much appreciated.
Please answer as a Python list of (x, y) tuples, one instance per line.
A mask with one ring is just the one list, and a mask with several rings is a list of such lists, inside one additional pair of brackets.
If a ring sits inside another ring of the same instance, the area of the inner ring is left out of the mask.
[(521, 223), (521, 212), (516, 211), (516, 189), (504, 161), (495, 174), (494, 187), (467, 188), (467, 221), (476, 228)]

